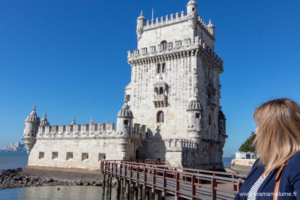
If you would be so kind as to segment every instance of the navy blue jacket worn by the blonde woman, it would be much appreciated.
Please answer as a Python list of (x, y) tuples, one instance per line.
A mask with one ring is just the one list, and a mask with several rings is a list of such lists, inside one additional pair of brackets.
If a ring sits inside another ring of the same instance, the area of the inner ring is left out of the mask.
[[(246, 200), (247, 195), (245, 192), (249, 192), (250, 188), (253, 186), (255, 181), (262, 175), (265, 171), (263, 165), (257, 166), (259, 159), (257, 159), (251, 171), (249, 172), (246, 180), (244, 181), (243, 185), (241, 186), (238, 194), (235, 196), (234, 200)], [(278, 172), (279, 168), (275, 169), (274, 171), (270, 172), (265, 180), (262, 182), (261, 186), (258, 188), (258, 193), (261, 196), (256, 196), (256, 200), (265, 200), (265, 199), (273, 199), (273, 192), (275, 188), (275, 177)], [(268, 196), (268, 192), (269, 195)], [(279, 184), (279, 192), (281, 193), (278, 196), (278, 200), (282, 199), (297, 199), (300, 200), (300, 151), (296, 153), (289, 159), (289, 162), (283, 168), (281, 173), (281, 179)], [(287, 192), (283, 194), (283, 192)], [(296, 193), (295, 193), (296, 192)], [(288, 193), (290, 193), (290, 196)]]

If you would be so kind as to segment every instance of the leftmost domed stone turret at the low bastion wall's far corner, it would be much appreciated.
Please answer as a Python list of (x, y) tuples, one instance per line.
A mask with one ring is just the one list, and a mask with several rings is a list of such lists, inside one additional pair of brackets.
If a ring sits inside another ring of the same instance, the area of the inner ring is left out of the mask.
[(22, 140), (25, 140), (28, 154), (32, 149), (32, 145), (35, 143), (35, 136), (38, 132), (38, 126), (40, 125), (40, 118), (37, 116), (35, 110), (36, 108), (33, 106), (32, 112), (26, 117), (24, 134), (22, 135)]

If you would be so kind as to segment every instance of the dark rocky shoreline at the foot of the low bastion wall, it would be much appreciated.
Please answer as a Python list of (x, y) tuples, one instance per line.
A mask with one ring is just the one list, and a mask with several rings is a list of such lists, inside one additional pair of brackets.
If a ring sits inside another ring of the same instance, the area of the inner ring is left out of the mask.
[[(60, 181), (52, 178), (32, 177), (21, 174), (22, 168), (8, 169), (0, 171), (0, 189), (17, 187), (35, 187), (35, 186), (66, 186), (66, 185), (84, 185), (84, 186), (102, 186), (101, 182), (95, 181)], [(2, 172), (2, 173), (1, 173)], [(114, 183), (113, 183), (114, 186)]]

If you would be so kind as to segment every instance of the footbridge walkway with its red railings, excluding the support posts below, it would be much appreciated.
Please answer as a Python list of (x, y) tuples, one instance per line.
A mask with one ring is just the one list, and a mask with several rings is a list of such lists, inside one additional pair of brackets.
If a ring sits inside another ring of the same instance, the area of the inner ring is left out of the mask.
[[(235, 178), (240, 174), (213, 172), (210, 175), (212, 171), (204, 170), (196, 170), (198, 173), (192, 173), (188, 171), (195, 171), (194, 169), (135, 162), (101, 161), (101, 170), (103, 174), (109, 174), (129, 183), (140, 184), (145, 189), (152, 189), (152, 192), (162, 192), (163, 196), (174, 195), (176, 199), (233, 199), (243, 182)], [(210, 181), (210, 184), (201, 184), (201, 180)], [(230, 183), (233, 190), (217, 187), (218, 183)]]

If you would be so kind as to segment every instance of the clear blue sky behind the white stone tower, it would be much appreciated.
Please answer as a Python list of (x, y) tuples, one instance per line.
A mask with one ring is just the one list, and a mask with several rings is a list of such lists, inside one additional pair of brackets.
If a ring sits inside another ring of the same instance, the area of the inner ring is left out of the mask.
[[(186, 13), (181, 1), (0, 1), (0, 147), (21, 141), (36, 105), (51, 125), (116, 121), (130, 82), (127, 50), (136, 19)], [(300, 1), (197, 1), (216, 27), (224, 60), (220, 104), (233, 155), (255, 129), (254, 108), (272, 98), (300, 102)], [(185, 127), (182, 127), (185, 129)]]

